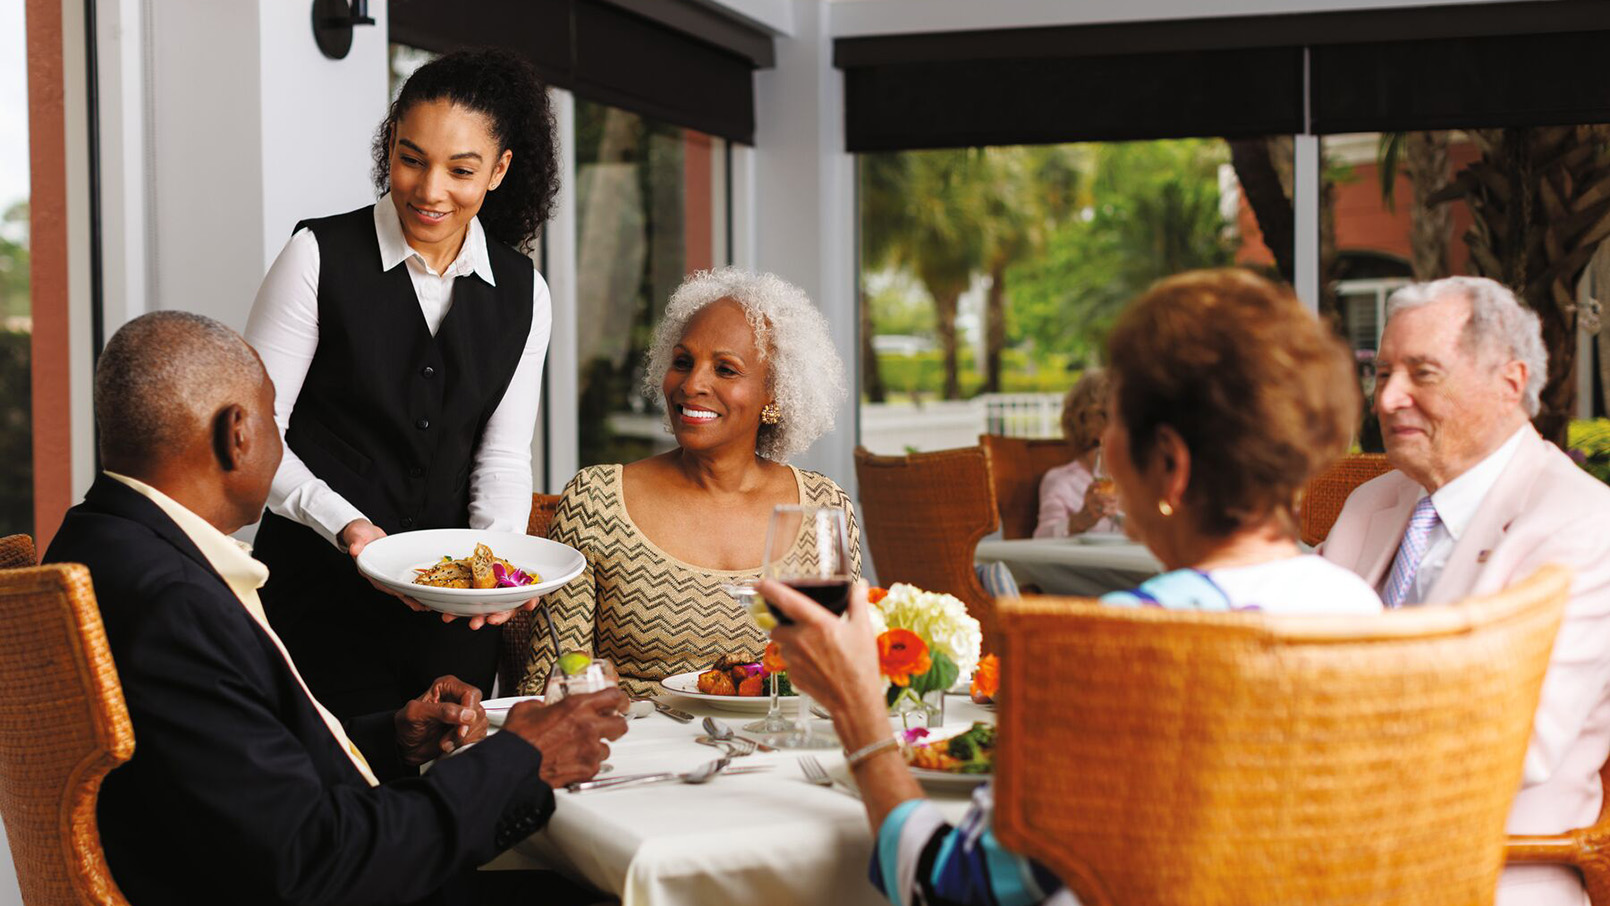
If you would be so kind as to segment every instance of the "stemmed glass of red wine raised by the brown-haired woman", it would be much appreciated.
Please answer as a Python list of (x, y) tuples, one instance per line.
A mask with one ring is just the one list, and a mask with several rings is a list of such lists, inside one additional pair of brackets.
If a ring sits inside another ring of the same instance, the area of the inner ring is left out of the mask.
[[(831, 613), (844, 615), (850, 607), (850, 529), (839, 507), (782, 505), (771, 510), (766, 528), (766, 563), (762, 568), (768, 579), (776, 579)], [(766, 607), (778, 623), (789, 618), (778, 608)], [(810, 697), (799, 687), (800, 710), (797, 731), (789, 743), (794, 748), (836, 748), (839, 739), (826, 721), (811, 721)]]

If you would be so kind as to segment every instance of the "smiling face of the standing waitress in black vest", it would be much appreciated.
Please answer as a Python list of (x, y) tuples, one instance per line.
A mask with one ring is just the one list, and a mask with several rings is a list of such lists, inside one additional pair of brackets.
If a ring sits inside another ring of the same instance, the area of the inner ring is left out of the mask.
[(446, 100), (404, 111), (391, 140), (391, 203), (409, 245), (456, 251), (512, 158), (485, 114)]

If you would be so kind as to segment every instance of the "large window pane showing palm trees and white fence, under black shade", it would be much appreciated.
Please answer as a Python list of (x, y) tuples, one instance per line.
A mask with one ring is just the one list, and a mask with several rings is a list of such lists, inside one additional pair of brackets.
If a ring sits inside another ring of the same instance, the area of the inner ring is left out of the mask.
[[(1061, 396), (1100, 365), (1129, 299), (1180, 270), (1280, 275), (1291, 261), (1253, 216), (1256, 201), (1291, 217), (1290, 138), (898, 151), (858, 167), (874, 452), (1058, 436)], [(1238, 167), (1264, 196), (1249, 200)]]

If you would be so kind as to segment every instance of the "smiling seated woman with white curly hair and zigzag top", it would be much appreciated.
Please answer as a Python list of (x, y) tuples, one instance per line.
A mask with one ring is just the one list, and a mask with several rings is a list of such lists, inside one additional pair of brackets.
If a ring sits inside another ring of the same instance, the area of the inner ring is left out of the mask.
[[(689, 277), (655, 330), (642, 389), (663, 399), (676, 449), (581, 470), (549, 525), (588, 560), (547, 599), (560, 644), (612, 658), (634, 694), (721, 655), (758, 660), (765, 634), (721, 586), (760, 574), (773, 507), (842, 507), (861, 570), (850, 497), (787, 465), (832, 430), (847, 393), (803, 291), (736, 267)], [(531, 636), (522, 694), (541, 692), (551, 649), (546, 632)]]

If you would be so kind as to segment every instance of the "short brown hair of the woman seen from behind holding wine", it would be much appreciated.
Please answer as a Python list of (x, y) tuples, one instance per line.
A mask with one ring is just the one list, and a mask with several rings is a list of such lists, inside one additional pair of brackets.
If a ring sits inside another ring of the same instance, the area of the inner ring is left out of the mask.
[(1246, 270), (1158, 282), (1108, 346), (1135, 467), (1172, 426), (1191, 454), (1185, 504), (1206, 534), (1291, 525), (1298, 491), (1352, 439), (1348, 348), (1288, 288)]

